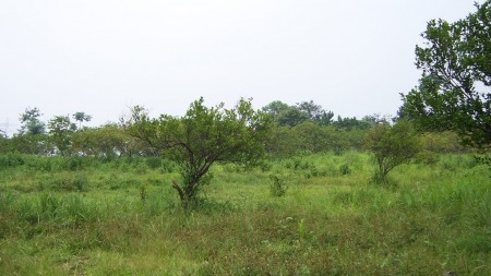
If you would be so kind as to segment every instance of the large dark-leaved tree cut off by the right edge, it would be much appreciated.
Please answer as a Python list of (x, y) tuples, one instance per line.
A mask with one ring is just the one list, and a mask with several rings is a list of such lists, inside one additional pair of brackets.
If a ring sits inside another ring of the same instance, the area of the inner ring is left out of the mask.
[(399, 116), (423, 130), (454, 130), (465, 144), (491, 144), (491, 1), (455, 23), (433, 20), (416, 47), (419, 85), (402, 95)]

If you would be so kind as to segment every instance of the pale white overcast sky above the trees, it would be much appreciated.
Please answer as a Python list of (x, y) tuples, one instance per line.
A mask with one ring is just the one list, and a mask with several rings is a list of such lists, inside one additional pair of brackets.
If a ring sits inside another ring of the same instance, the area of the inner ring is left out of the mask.
[(99, 125), (134, 105), (183, 115), (200, 96), (394, 115), (420, 76), (427, 22), (474, 11), (472, 0), (0, 0), (0, 129), (16, 132), (26, 107)]

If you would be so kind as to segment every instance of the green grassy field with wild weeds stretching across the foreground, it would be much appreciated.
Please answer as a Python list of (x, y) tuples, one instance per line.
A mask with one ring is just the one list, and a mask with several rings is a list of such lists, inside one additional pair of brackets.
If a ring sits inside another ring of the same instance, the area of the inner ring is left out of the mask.
[(363, 153), (218, 165), (188, 212), (157, 159), (0, 163), (0, 275), (491, 275), (490, 171), (468, 155), (385, 187)]

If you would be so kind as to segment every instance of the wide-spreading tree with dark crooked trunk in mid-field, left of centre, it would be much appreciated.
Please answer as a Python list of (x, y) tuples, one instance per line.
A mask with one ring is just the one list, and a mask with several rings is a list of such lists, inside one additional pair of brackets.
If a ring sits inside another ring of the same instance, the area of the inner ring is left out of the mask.
[(250, 100), (241, 99), (232, 109), (223, 104), (207, 108), (203, 101), (200, 98), (192, 103), (181, 118), (161, 115), (151, 119), (142, 107), (134, 107), (124, 123), (131, 135), (178, 164), (183, 183), (172, 181), (172, 187), (184, 207), (209, 181), (213, 164), (255, 164), (264, 154), (271, 130), (270, 117), (254, 111)]

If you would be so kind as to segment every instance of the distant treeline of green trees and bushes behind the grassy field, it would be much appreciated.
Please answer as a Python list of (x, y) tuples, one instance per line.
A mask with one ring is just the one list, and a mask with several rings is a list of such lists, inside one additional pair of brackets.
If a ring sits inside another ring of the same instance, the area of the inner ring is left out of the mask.
[[(266, 152), (272, 157), (300, 153), (363, 151), (368, 131), (378, 124), (391, 124), (396, 118), (371, 115), (362, 119), (334, 119), (332, 111), (311, 101), (289, 106), (275, 100), (262, 108), (274, 121)], [(88, 128), (92, 119), (84, 112), (56, 116), (47, 123), (40, 111), (28, 108), (21, 115), (22, 128), (12, 137), (0, 135), (0, 154), (21, 153), (41, 156), (93, 156), (105, 159), (157, 156), (160, 153), (129, 135), (121, 123)], [(1, 134), (1, 133), (0, 133)], [(452, 132), (421, 133), (423, 147), (430, 152), (455, 153), (464, 148)]]

